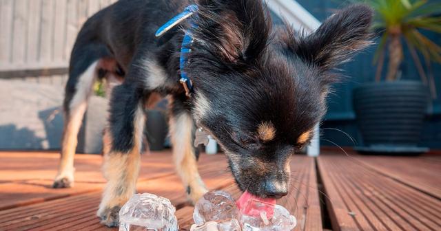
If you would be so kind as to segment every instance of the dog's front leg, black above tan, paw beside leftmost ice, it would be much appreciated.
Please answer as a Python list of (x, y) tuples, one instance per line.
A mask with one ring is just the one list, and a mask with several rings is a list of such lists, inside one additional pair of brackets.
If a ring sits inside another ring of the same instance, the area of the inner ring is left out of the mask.
[(104, 137), (103, 172), (107, 184), (97, 212), (101, 223), (118, 225), (119, 210), (136, 191), (145, 124), (143, 96), (124, 83), (114, 87), (110, 102), (109, 128)]

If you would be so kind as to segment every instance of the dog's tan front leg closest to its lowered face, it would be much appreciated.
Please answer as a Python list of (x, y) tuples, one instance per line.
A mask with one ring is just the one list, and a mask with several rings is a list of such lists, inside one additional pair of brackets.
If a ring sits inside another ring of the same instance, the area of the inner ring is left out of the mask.
[(172, 99), (170, 135), (172, 136), (173, 159), (178, 175), (183, 181), (187, 197), (193, 203), (201, 198), (207, 189), (198, 173), (196, 154), (193, 147), (194, 122), (183, 102)]

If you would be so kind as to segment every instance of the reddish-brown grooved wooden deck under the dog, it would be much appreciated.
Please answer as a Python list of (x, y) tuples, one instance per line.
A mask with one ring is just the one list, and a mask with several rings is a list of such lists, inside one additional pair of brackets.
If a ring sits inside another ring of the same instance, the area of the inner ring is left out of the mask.
[[(57, 153), (0, 152), (0, 230), (112, 230), (95, 217), (101, 159), (76, 155), (74, 188), (52, 189)], [(193, 208), (170, 153), (142, 160), (138, 191), (169, 198), (188, 230)], [(210, 189), (240, 195), (223, 155), (202, 155), (199, 169)], [(297, 217), (296, 230), (441, 230), (440, 155), (296, 155), (291, 170), (292, 190), (278, 203)]]

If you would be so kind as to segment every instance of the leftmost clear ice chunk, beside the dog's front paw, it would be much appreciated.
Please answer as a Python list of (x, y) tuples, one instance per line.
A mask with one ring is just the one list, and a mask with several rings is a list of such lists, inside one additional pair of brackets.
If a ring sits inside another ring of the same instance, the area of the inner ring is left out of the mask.
[(174, 212), (169, 199), (150, 193), (133, 195), (119, 211), (119, 231), (178, 231)]

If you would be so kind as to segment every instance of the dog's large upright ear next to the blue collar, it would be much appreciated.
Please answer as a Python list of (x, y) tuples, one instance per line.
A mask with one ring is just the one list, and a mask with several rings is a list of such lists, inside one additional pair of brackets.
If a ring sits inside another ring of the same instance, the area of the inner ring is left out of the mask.
[(194, 55), (205, 52), (238, 64), (254, 62), (265, 52), (271, 19), (261, 1), (200, 0), (198, 7), (193, 36), (199, 54)]

